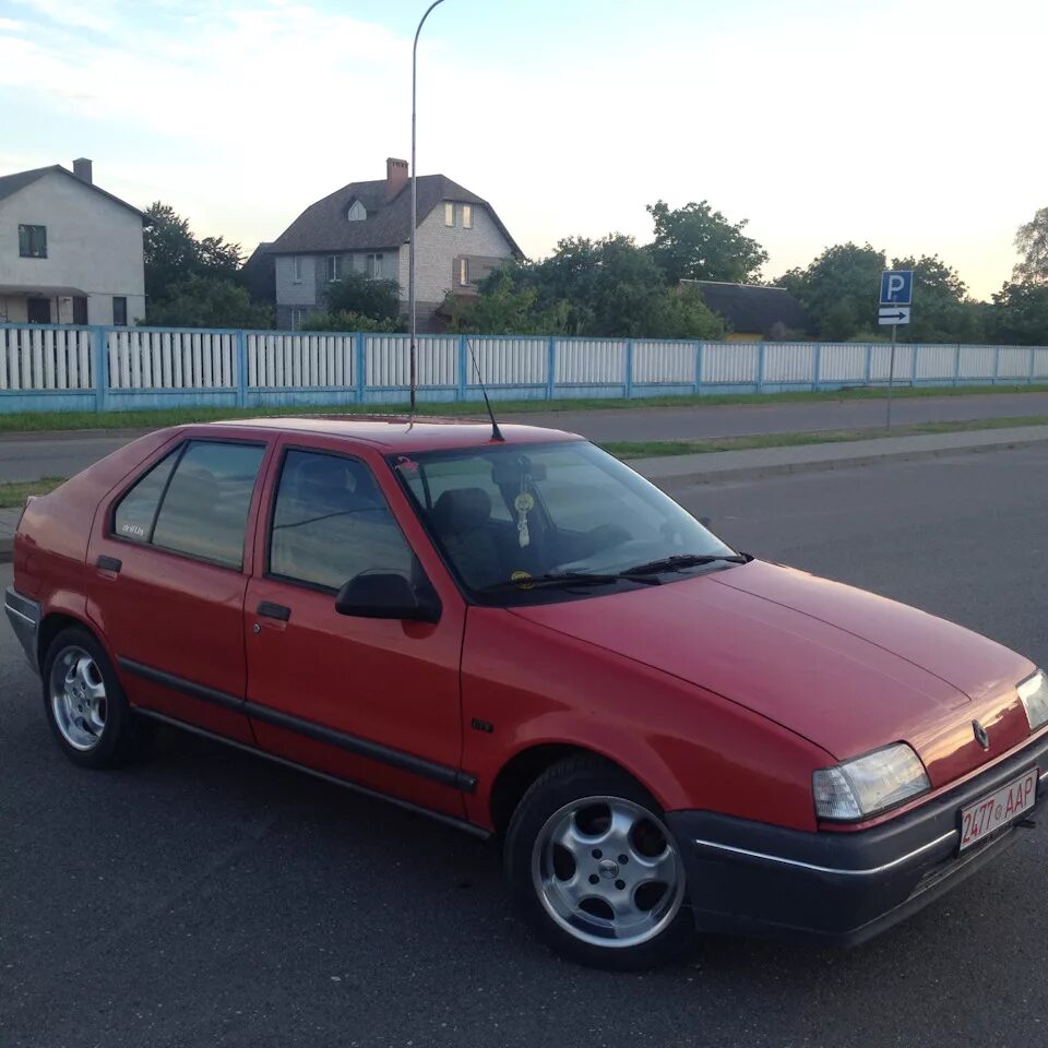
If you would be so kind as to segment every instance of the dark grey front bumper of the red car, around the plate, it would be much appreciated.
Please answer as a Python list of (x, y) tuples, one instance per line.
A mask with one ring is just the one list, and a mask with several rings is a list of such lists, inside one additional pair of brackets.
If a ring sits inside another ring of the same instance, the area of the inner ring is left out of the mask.
[[(960, 812), (1035, 765), (1037, 803), (963, 853)], [(1048, 736), (872, 830), (806, 833), (707, 811), (666, 819), (702, 931), (856, 945), (927, 906), (1028, 832), (1048, 800)]]

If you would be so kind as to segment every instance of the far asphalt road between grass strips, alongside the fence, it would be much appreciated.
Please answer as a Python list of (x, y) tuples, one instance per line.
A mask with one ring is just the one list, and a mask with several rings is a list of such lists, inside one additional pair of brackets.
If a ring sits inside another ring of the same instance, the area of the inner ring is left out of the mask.
[[(498, 410), (498, 405), (495, 405)], [(294, 408), (290, 409), (294, 413)], [(483, 410), (478, 405), (478, 410)], [(825, 429), (880, 429), (885, 402), (818, 401), (800, 404), (741, 404), (699, 407), (623, 408), (596, 412), (536, 412), (510, 415), (507, 421), (550, 426), (596, 441), (696, 440), (750, 433), (810, 432)], [(896, 425), (977, 418), (1048, 416), (1048, 393), (996, 393), (973, 396), (896, 400)], [(0, 481), (71, 477), (129, 438), (0, 439)]]

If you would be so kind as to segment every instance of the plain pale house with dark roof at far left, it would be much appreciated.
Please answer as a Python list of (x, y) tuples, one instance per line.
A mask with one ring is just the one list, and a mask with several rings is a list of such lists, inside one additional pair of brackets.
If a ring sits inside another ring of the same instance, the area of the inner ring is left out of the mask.
[(133, 324), (145, 315), (148, 218), (91, 160), (0, 177), (0, 323)]

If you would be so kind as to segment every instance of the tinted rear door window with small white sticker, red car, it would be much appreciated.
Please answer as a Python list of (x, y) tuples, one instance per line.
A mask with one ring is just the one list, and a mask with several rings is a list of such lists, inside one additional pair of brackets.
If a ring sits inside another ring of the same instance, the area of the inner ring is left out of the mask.
[(264, 454), (262, 444), (182, 444), (123, 497), (114, 534), (239, 570)]

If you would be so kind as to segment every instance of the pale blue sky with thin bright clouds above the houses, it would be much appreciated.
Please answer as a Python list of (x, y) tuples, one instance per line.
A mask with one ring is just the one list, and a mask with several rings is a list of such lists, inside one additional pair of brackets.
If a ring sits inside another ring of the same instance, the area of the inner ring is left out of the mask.
[[(0, 174), (95, 181), (247, 251), (410, 152), (425, 0), (0, 0)], [(418, 170), (532, 258), (707, 200), (771, 255), (938, 253), (975, 297), (1048, 205), (1044, 0), (445, 0)]]

